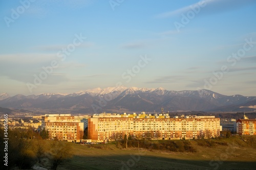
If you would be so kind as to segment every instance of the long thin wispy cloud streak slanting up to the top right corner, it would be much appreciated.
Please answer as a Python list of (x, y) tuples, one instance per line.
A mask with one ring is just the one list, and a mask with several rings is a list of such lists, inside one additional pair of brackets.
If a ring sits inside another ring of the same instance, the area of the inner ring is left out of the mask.
[(214, 14), (214, 13), (220, 13), (224, 11), (230, 11), (242, 8), (245, 5), (250, 5), (251, 3), (255, 3), (253, 0), (247, 0), (247, 1), (241, 1), (241, 0), (205, 0), (200, 1), (195, 4), (191, 4), (189, 6), (169, 11), (165, 13), (161, 13), (156, 15), (157, 18), (167, 18), (167, 17), (173, 17), (177, 15), (181, 15), (182, 13), (187, 13), (188, 11), (192, 11), (191, 7), (199, 6), (200, 4), (204, 3), (204, 5), (201, 5), (200, 11), (203, 11), (203, 14)]

